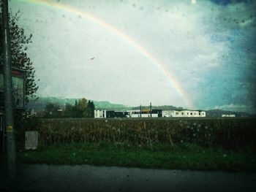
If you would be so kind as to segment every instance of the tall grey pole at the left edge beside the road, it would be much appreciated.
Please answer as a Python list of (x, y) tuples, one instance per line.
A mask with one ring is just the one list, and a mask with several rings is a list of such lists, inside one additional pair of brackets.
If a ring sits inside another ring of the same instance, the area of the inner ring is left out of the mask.
[(1, 12), (4, 63), (4, 122), (7, 136), (7, 180), (10, 191), (16, 191), (16, 149), (12, 102), (12, 62), (10, 51), (8, 0), (1, 1)]

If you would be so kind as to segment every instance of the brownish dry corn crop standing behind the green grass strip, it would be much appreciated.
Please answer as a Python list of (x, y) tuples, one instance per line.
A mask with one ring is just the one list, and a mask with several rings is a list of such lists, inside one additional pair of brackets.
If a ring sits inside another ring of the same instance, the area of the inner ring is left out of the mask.
[(39, 144), (72, 142), (255, 146), (256, 118), (42, 119)]

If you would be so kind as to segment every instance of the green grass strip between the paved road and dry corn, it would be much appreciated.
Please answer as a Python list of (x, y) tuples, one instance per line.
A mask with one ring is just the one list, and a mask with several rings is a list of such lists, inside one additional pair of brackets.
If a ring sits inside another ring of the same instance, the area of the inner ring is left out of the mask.
[(135, 147), (103, 142), (52, 145), (21, 151), (18, 162), (33, 164), (91, 164), (151, 169), (222, 170), (256, 172), (256, 155), (250, 148), (227, 151), (196, 145)]

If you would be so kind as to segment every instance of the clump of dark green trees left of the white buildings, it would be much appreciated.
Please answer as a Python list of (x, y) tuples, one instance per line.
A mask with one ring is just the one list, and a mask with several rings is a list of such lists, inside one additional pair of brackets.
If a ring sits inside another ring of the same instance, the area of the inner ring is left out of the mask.
[(75, 100), (75, 104), (65, 104), (61, 110), (59, 104), (49, 103), (45, 106), (43, 118), (94, 118), (94, 101), (83, 98)]

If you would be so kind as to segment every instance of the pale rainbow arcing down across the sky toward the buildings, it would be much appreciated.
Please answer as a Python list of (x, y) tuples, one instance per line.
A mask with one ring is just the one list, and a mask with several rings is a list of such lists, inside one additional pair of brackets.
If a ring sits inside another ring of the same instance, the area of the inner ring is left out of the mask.
[(187, 104), (186, 107), (189, 108), (195, 108), (192, 102), (189, 99), (189, 96), (183, 88), (181, 87), (180, 83), (173, 78), (173, 76), (170, 74), (170, 72), (165, 69), (165, 66), (157, 60), (151, 53), (146, 50), (146, 48), (142, 47), (138, 42), (135, 42), (132, 37), (129, 37), (127, 34), (124, 34), (123, 31), (118, 30), (117, 28), (110, 26), (110, 24), (106, 23), (104, 20), (101, 20), (94, 15), (91, 15), (89, 12), (81, 11), (80, 9), (77, 9), (75, 7), (71, 7), (67, 4), (62, 4), (61, 2), (54, 2), (50, 0), (19, 0), (26, 3), (31, 4), (39, 4), (45, 7), (50, 7), (54, 9), (61, 9), (62, 11), (71, 12), (75, 15), (80, 15), (81, 18), (85, 18), (86, 20), (91, 21), (92, 23), (95, 23), (99, 25), (102, 28), (105, 28), (108, 31), (111, 31), (113, 34), (116, 34), (119, 38), (124, 39), (126, 42), (129, 43), (132, 47), (135, 47), (136, 50), (142, 55), (144, 55), (145, 58), (147, 58), (149, 61), (151, 61), (152, 64), (154, 64), (157, 69), (159, 69), (165, 77), (167, 77), (167, 80), (173, 85), (173, 87), (176, 89), (178, 94), (181, 96), (181, 98), (184, 100), (185, 104)]

